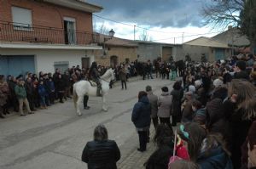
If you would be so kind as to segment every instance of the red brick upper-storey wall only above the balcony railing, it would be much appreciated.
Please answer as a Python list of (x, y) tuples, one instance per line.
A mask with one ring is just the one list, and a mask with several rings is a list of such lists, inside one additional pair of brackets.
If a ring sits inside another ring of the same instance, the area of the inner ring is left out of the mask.
[(32, 25), (44, 25), (62, 29), (63, 17), (72, 17), (76, 20), (77, 30), (92, 32), (91, 13), (31, 0), (1, 0), (0, 20), (12, 22), (12, 6), (31, 9)]

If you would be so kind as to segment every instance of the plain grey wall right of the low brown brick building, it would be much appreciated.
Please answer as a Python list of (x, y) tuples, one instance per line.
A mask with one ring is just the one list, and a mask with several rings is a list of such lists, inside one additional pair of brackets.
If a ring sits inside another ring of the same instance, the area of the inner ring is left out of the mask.
[(139, 43), (137, 49), (137, 54), (139, 54), (140, 61), (151, 61), (162, 57), (162, 46), (160, 44), (154, 43)]

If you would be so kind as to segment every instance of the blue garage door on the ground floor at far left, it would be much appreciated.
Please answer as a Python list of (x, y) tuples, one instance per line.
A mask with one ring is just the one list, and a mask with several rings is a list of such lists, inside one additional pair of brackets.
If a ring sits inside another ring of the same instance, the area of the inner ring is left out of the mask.
[(2, 55), (0, 56), (0, 74), (5, 76), (25, 75), (26, 72), (35, 72), (34, 56)]

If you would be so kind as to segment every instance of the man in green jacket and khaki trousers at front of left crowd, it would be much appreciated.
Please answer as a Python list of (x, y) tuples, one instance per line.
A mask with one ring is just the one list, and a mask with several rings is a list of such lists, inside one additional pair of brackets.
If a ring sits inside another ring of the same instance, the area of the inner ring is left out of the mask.
[(23, 103), (26, 105), (26, 110), (28, 114), (32, 114), (33, 112), (30, 110), (29, 103), (26, 99), (26, 89), (24, 87), (24, 81), (17, 80), (17, 85), (15, 86), (15, 94), (17, 99), (19, 100), (19, 112), (20, 116), (25, 116), (23, 113)]

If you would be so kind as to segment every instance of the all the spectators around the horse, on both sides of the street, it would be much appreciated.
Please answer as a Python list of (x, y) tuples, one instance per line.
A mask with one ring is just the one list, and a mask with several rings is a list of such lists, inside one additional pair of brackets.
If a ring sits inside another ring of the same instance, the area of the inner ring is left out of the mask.
[[(144, 166), (148, 169), (255, 168), (255, 60), (252, 54), (240, 54), (214, 64), (183, 62), (183, 66), (177, 66), (177, 62), (148, 60), (117, 65), (115, 76), (122, 89), (127, 88), (131, 76), (143, 76), (143, 80), (153, 79), (153, 72), (163, 79), (176, 80), (180, 76), (172, 87), (162, 87), (160, 96), (149, 85), (138, 93), (131, 115), (139, 138), (137, 150), (147, 150), (151, 121), (157, 146)], [(108, 70), (100, 65), (94, 68), (97, 76)], [(78, 65), (63, 74), (56, 69), (53, 75), (41, 71), (37, 76), (28, 72), (25, 76), (7, 76), (6, 80), (1, 75), (0, 117), (9, 114), (11, 107), (25, 116), (23, 104), (27, 113), (33, 114), (38, 109), (47, 109), (56, 100), (64, 103), (72, 96), (73, 83), (88, 80), (90, 72)], [(89, 109), (86, 101), (84, 109)], [(89, 168), (101, 168), (101, 165), (116, 168), (119, 158), (119, 148), (108, 140), (106, 127), (96, 127), (94, 141), (86, 144), (82, 161)]]

